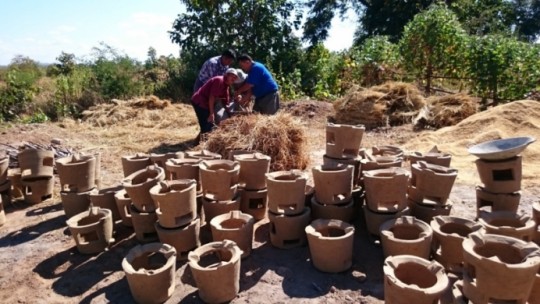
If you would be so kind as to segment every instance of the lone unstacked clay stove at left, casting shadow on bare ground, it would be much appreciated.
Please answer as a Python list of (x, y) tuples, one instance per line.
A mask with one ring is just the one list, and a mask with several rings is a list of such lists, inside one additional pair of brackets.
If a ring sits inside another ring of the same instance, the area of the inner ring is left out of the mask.
[(112, 213), (109, 209), (89, 207), (66, 221), (69, 231), (83, 254), (98, 253), (114, 242)]

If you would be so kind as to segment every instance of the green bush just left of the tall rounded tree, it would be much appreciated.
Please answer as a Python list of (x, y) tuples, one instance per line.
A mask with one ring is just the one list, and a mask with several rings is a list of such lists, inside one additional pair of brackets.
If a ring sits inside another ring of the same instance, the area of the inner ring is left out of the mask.
[(373, 86), (393, 79), (401, 58), (398, 46), (388, 36), (374, 36), (351, 50), (353, 77), (362, 86)]

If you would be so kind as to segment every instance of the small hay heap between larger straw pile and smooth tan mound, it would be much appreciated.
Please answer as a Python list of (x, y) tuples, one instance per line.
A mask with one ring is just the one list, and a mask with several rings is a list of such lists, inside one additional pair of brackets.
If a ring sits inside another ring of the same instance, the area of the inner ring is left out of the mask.
[(415, 128), (453, 126), (478, 112), (478, 99), (466, 94), (432, 96), (415, 119)]

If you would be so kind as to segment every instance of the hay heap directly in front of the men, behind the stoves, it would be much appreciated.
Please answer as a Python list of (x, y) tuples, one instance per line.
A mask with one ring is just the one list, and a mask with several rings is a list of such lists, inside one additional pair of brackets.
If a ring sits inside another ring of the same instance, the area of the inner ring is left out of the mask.
[(270, 170), (305, 169), (307, 138), (301, 123), (287, 113), (242, 115), (222, 122), (202, 148), (227, 157), (229, 151), (258, 151), (272, 158)]

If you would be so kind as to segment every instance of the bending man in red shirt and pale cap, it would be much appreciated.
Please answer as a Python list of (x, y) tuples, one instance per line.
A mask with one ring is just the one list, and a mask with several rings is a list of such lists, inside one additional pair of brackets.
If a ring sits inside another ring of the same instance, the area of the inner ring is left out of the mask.
[(230, 102), (229, 87), (237, 79), (236, 69), (229, 68), (223, 76), (210, 78), (191, 96), (191, 104), (201, 128), (200, 134), (208, 133), (216, 126), (216, 121), (219, 118), (216, 117), (216, 105), (218, 102), (222, 102), (223, 108), (227, 109)]

